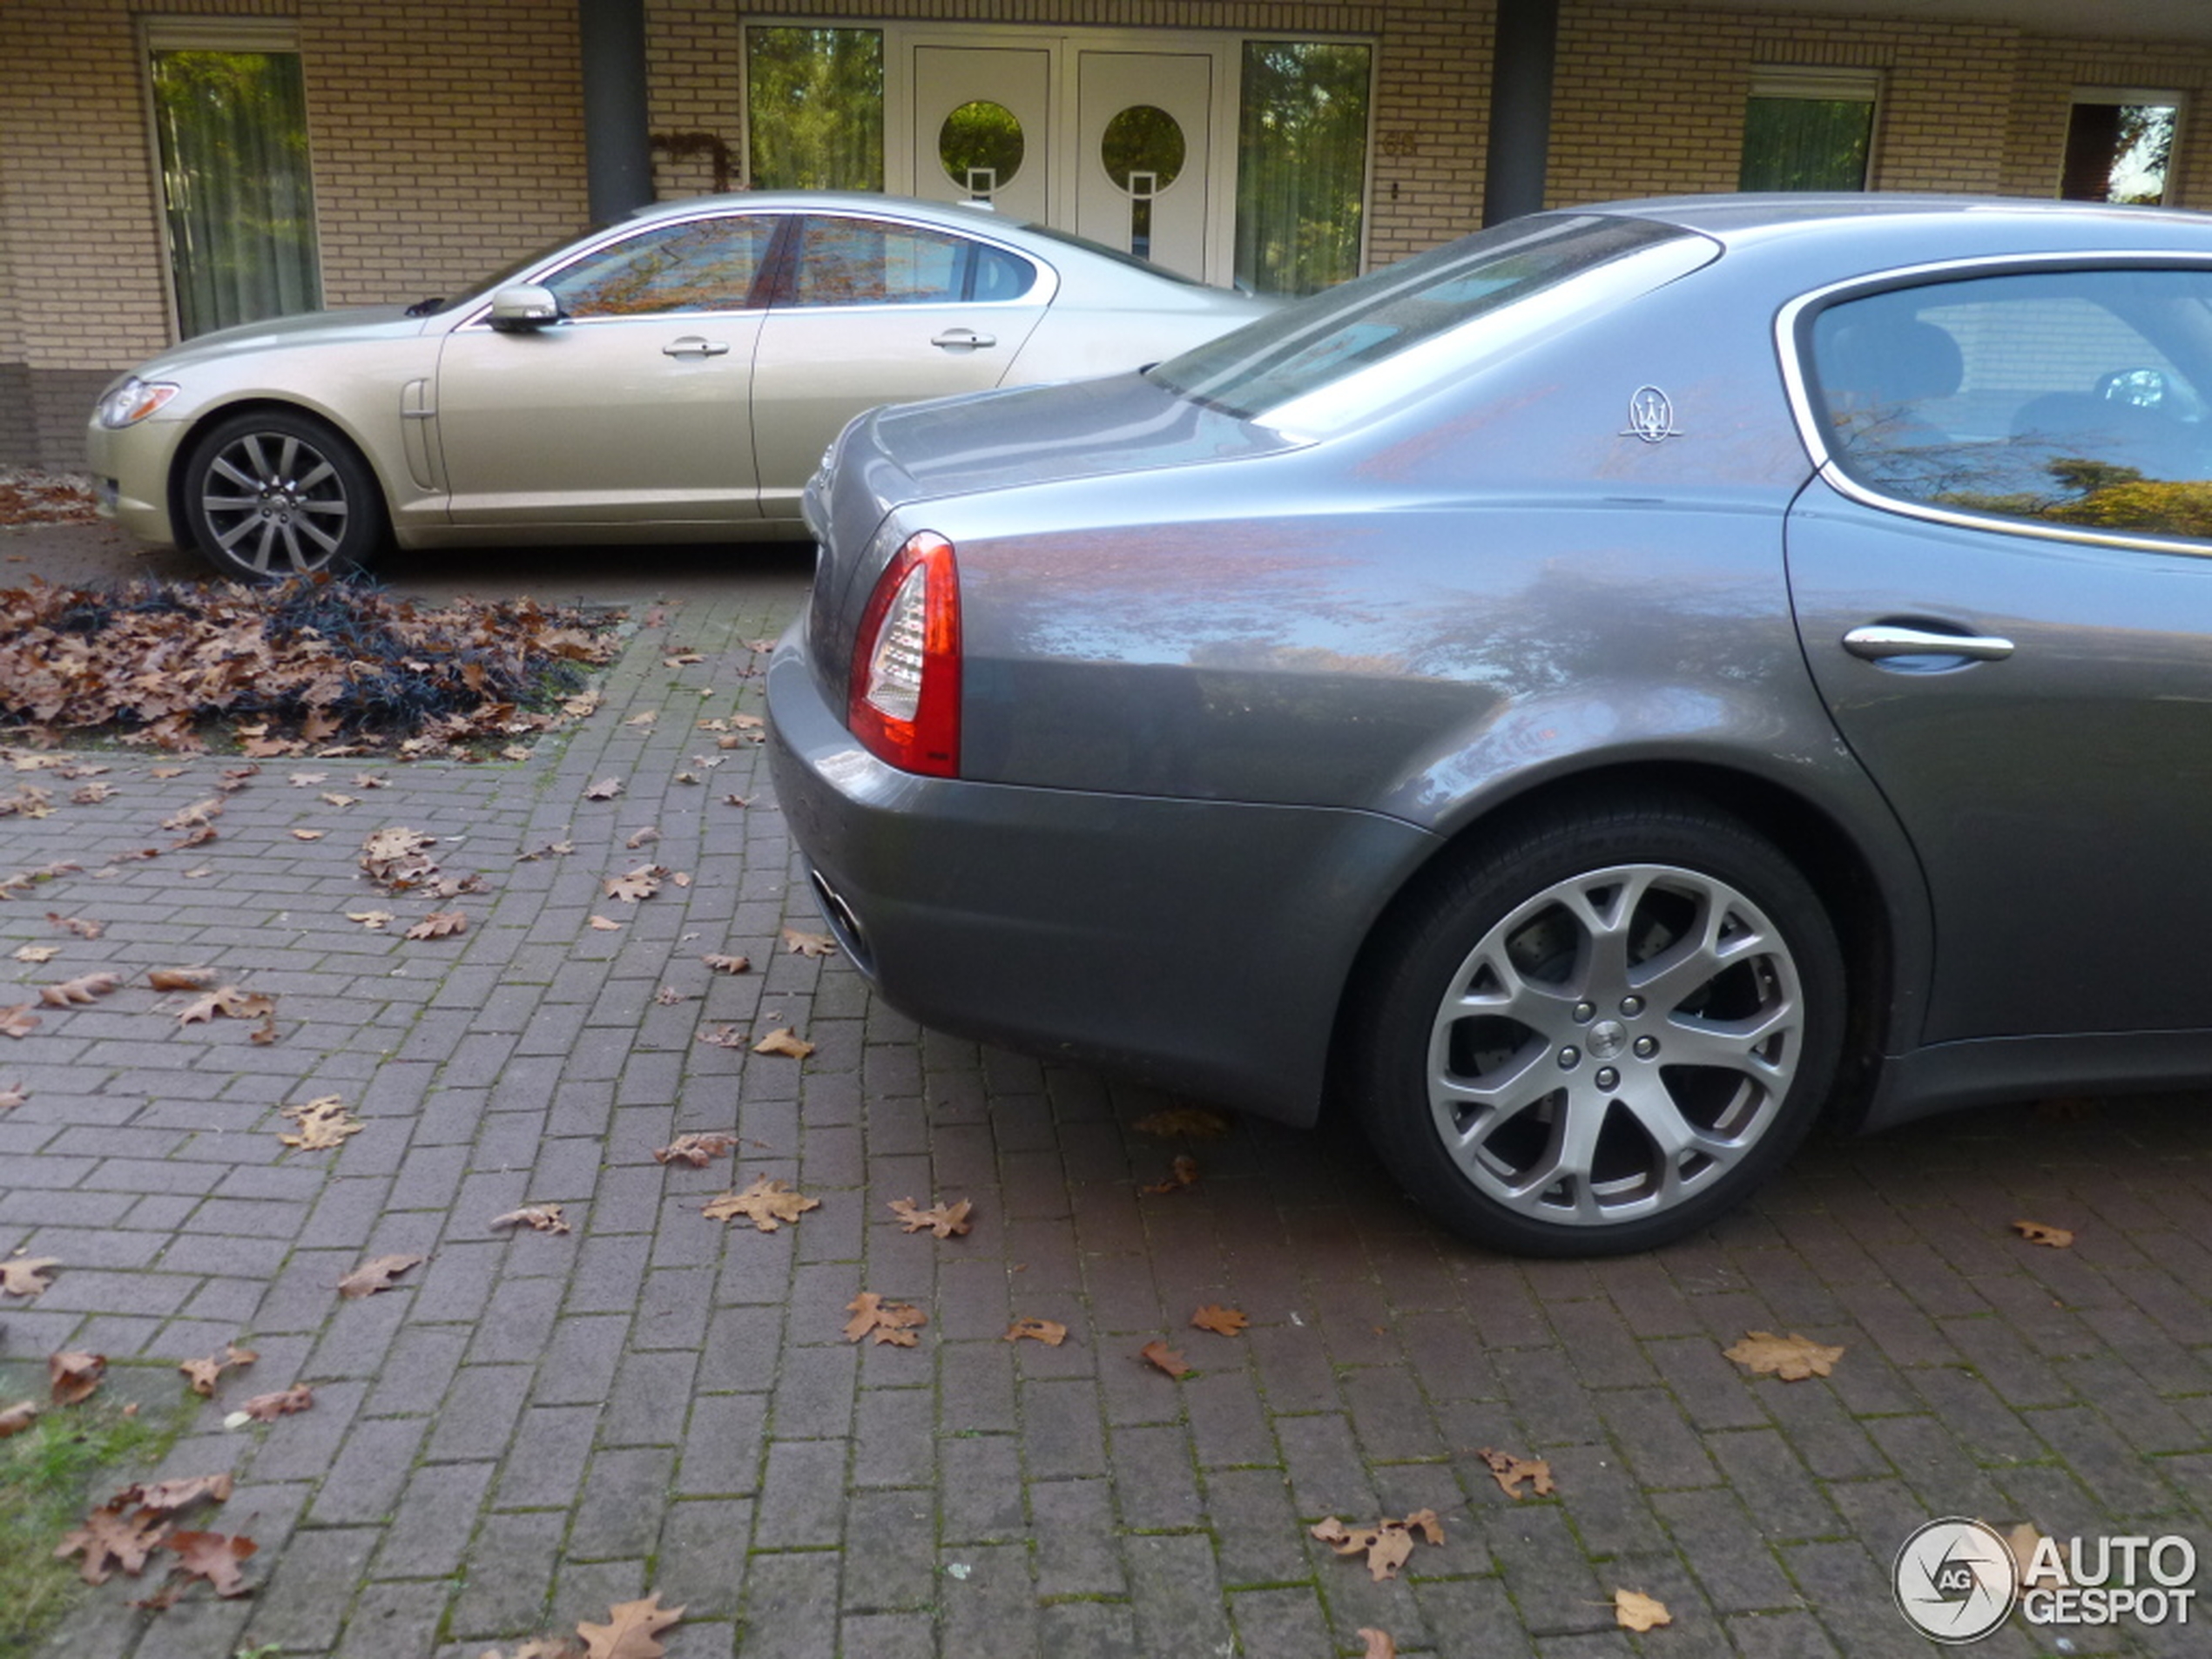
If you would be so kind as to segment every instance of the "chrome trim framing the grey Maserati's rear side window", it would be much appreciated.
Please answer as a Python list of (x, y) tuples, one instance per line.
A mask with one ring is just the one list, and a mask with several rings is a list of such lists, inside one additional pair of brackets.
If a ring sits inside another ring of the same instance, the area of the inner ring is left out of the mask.
[[(1929, 524), (1947, 524), (1964, 531), (2006, 531), (2008, 535), (2033, 535), (2044, 542), (2070, 542), (2077, 546), (2115, 546), (2137, 553), (2190, 553), (2192, 557), (2203, 557), (2212, 544), (2185, 535), (2121, 535), (2115, 531), (2048, 524), (2035, 518), (2006, 518), (2004, 513), (1971, 513), (1958, 507), (1933, 507), (1929, 502), (1916, 502), (1907, 495), (1885, 495), (1871, 484), (1858, 482), (1843, 469), (1843, 462), (1836, 460), (1836, 453), (1827, 447), (1827, 434), (1812, 400), (1812, 385), (1805, 374), (1805, 356), (1812, 349), (1807, 325), (1814, 312), (1840, 299), (1860, 299), (1863, 294), (1882, 294), (1898, 288), (1927, 288), (1938, 281), (2004, 276), (2013, 272), (2130, 268), (2212, 272), (2212, 254), (2139, 248), (1975, 254), (1971, 259), (1938, 259), (1924, 265), (1898, 265), (1893, 270), (1847, 276), (1798, 294), (1774, 314), (1774, 356), (1781, 363), (1783, 389), (1790, 398), (1790, 416), (1796, 420), (1798, 440), (1805, 445), (1805, 453), (1809, 453), (1814, 462), (1814, 478), (1860, 507), (1927, 520)], [(2212, 392), (2212, 387), (2205, 389)]]

